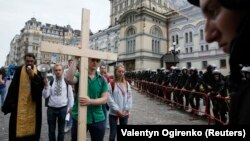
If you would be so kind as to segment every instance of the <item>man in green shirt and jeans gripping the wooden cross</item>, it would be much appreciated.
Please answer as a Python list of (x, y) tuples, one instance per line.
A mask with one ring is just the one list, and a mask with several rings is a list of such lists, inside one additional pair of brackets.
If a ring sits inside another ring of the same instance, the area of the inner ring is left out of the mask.
[[(77, 60), (78, 59), (76, 59), (68, 69), (67, 81), (69, 84), (79, 83), (79, 73), (75, 74), (78, 63)], [(78, 101), (80, 106), (87, 106), (87, 130), (90, 132), (91, 140), (103, 141), (105, 134), (105, 115), (102, 110), (102, 105), (106, 104), (109, 93), (105, 78), (97, 73), (99, 63), (100, 59), (88, 59), (88, 95), (79, 97), (79, 100), (78, 96), (76, 96), (72, 109), (72, 141), (77, 141)]]

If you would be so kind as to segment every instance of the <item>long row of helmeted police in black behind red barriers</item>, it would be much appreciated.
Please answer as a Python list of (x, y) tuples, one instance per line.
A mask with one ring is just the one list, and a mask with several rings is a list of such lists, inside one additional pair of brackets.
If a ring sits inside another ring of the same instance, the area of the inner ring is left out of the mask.
[[(161, 97), (181, 110), (192, 109), (195, 114), (200, 111), (200, 100), (203, 99), (205, 116), (214, 116), (216, 124), (225, 124), (228, 120), (228, 76), (223, 76), (214, 65), (208, 65), (204, 73), (193, 67), (180, 69), (173, 66), (170, 70), (127, 72), (126, 78), (133, 80), (140, 90)], [(210, 113), (210, 100), (213, 113)]]

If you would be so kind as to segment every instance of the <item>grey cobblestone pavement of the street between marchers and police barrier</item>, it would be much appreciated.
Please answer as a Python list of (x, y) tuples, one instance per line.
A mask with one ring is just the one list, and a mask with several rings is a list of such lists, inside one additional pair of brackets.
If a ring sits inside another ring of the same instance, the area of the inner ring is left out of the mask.
[[(44, 102), (43, 102), (44, 103)], [(43, 106), (44, 107), (44, 106)], [(0, 141), (8, 141), (9, 115), (0, 112)], [(188, 112), (171, 109), (168, 105), (155, 98), (140, 94), (133, 90), (133, 108), (129, 118), (132, 125), (207, 125), (205, 120), (196, 119)], [(46, 107), (43, 108), (41, 141), (48, 141)], [(108, 141), (109, 129), (105, 132)], [(87, 140), (90, 140), (89, 134)], [(65, 141), (70, 141), (70, 132), (66, 133)]]

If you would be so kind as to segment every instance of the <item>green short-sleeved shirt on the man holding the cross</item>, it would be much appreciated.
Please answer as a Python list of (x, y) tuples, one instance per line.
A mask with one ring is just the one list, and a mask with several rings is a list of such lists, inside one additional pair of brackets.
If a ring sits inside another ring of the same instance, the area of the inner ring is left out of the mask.
[[(79, 80), (80, 74), (76, 73), (75, 77)], [(79, 82), (79, 81), (78, 81)], [(78, 89), (78, 88), (76, 88)], [(108, 84), (106, 80), (96, 72), (94, 79), (88, 77), (88, 96), (90, 99), (97, 99), (102, 96), (102, 93), (108, 91)], [(78, 95), (75, 97), (75, 103), (72, 109), (72, 117), (77, 120), (78, 118)], [(87, 107), (87, 124), (105, 120), (102, 110), (102, 105), (89, 105)]]

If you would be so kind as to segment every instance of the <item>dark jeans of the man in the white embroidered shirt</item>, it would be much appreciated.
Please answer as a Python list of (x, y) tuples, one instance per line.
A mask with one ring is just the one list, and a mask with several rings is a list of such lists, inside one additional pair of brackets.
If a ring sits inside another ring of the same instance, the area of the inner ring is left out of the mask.
[(57, 141), (64, 140), (64, 126), (67, 109), (67, 106), (61, 108), (48, 107), (47, 121), (49, 126), (49, 141), (56, 141), (56, 121), (58, 121)]

